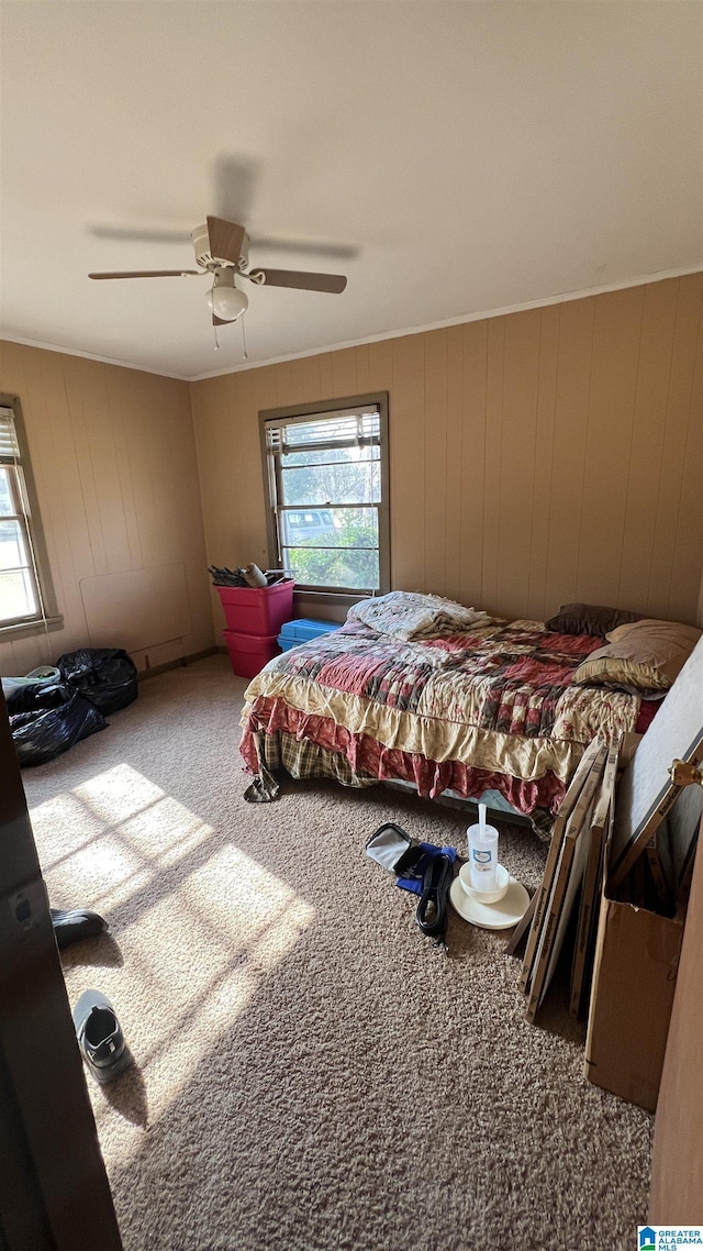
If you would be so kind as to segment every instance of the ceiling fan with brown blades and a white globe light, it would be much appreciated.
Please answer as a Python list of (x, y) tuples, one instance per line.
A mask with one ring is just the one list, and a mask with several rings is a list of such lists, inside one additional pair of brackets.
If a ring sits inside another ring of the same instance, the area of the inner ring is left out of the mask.
[(208, 303), (213, 325), (236, 322), (249, 300), (236, 285), (235, 276), (246, 278), (256, 286), (294, 286), (305, 291), (326, 291), (339, 295), (346, 286), (343, 274), (309, 274), (298, 269), (249, 269), (249, 236), (244, 226), (224, 218), (206, 218), (205, 224), (190, 231), (198, 269), (138, 269), (89, 274), (89, 278), (189, 278), (210, 274), (213, 286)]

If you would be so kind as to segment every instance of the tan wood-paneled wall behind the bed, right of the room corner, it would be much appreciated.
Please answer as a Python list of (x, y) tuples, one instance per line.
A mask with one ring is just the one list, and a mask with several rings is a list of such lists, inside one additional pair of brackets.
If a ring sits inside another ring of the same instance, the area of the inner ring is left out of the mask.
[(702, 296), (694, 274), (193, 383), (208, 562), (266, 560), (260, 409), (388, 390), (394, 588), (695, 622)]

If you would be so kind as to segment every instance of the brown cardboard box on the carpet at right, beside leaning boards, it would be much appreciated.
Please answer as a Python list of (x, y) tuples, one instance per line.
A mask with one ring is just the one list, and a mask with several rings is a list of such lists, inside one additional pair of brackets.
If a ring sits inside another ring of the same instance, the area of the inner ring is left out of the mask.
[(657, 1107), (682, 940), (683, 918), (603, 892), (584, 1072), (649, 1112)]

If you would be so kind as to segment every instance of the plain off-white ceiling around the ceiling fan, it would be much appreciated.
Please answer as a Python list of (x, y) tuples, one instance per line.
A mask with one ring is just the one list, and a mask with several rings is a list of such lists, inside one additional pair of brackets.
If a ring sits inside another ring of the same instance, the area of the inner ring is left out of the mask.
[(702, 53), (698, 0), (4, 4), (0, 334), (240, 365), (205, 278), (86, 278), (190, 268), (208, 213), (349, 276), (245, 284), (250, 363), (703, 268)]

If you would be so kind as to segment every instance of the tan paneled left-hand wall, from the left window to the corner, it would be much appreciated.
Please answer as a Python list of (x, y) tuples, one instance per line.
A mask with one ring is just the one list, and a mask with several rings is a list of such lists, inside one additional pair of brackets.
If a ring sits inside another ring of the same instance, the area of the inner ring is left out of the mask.
[[(91, 642), (81, 582), (183, 565), (185, 612), (164, 605), (139, 668), (213, 644), (188, 383), (0, 343), (0, 392), (19, 395), (64, 629), (0, 643), (0, 672), (23, 674)], [(104, 580), (110, 594), (111, 579)], [(183, 580), (183, 578), (181, 578)], [(111, 597), (113, 646), (131, 627)], [(179, 605), (180, 607), (180, 605)], [(120, 615), (121, 614), (121, 615)], [(174, 637), (174, 620), (189, 629)], [(154, 646), (151, 646), (154, 644)]]

